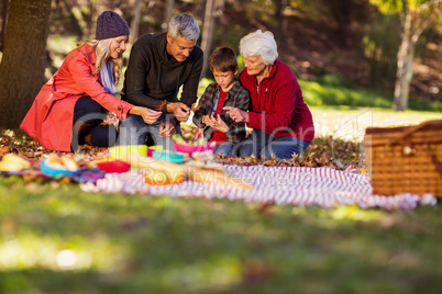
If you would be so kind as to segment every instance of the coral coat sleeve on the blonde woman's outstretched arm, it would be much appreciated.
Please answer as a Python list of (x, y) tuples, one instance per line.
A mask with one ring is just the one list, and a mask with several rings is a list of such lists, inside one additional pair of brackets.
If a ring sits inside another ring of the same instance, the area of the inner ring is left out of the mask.
[(125, 117), (128, 112), (133, 108), (131, 103), (122, 101), (117, 97), (109, 94), (100, 84), (90, 70), (90, 63), (86, 55), (75, 58), (69, 70), (73, 75), (77, 87), (91, 99), (97, 101), (101, 106), (117, 114), (117, 117)]

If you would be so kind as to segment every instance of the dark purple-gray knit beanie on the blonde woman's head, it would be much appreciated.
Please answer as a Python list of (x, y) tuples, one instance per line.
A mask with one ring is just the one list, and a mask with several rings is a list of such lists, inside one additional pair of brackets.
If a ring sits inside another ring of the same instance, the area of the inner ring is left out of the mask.
[(115, 12), (104, 11), (97, 19), (96, 39), (129, 36), (128, 23)]

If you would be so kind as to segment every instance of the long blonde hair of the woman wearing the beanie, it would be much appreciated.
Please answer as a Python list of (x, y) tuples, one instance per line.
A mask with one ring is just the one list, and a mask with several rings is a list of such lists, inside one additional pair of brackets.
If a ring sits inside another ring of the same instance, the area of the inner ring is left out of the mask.
[(123, 71), (123, 57), (120, 55), (118, 58), (110, 57), (110, 45), (113, 38), (104, 38), (104, 39), (88, 39), (85, 42), (80, 42), (77, 44), (77, 49), (81, 53), (89, 54), (90, 52), (84, 52), (80, 49), (84, 45), (90, 45), (96, 49), (97, 54), (97, 61), (96, 61), (96, 70), (92, 72), (97, 75), (100, 72), (101, 68), (103, 67), (104, 63), (109, 59), (113, 64), (113, 78), (115, 80), (115, 84), (119, 82), (121, 74)]

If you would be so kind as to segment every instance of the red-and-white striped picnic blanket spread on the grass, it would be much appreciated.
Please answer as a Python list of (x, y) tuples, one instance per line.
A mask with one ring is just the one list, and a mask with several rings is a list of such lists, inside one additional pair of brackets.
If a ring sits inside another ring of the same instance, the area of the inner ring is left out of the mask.
[(373, 195), (366, 174), (330, 168), (224, 166), (226, 174), (252, 183), (254, 189), (230, 184), (185, 181), (174, 185), (150, 185), (142, 170), (107, 173), (96, 182), (81, 183), (87, 192), (122, 192), (151, 196), (228, 199), (276, 205), (316, 205), (333, 208), (357, 205), (361, 208), (411, 210), (418, 205), (434, 205), (432, 194), (423, 196), (405, 193), (394, 196)]

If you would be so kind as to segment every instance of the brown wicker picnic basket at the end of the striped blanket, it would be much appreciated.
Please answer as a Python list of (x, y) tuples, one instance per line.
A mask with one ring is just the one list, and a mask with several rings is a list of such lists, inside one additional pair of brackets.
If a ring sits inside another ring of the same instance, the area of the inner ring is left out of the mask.
[(373, 193), (442, 197), (442, 120), (368, 127), (363, 139)]

